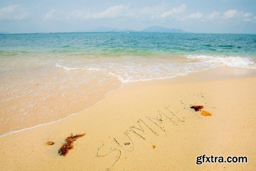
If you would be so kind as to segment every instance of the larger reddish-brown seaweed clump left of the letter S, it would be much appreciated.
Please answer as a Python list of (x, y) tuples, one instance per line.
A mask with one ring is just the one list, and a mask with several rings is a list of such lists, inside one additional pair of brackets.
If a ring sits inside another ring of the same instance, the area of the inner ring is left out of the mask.
[(70, 137), (67, 137), (65, 140), (66, 142), (59, 148), (59, 155), (66, 156), (69, 153), (69, 150), (74, 148), (73, 142), (77, 140), (77, 138), (83, 137), (84, 135), (86, 134), (76, 134), (74, 136), (71, 134)]

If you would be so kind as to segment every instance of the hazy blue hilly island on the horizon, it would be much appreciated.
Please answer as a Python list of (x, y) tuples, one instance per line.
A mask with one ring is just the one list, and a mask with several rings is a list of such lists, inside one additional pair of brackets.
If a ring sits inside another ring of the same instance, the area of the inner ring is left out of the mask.
[(162, 26), (151, 26), (140, 31), (130, 30), (130, 29), (118, 29), (112, 27), (99, 27), (92, 32), (163, 32), (163, 33), (186, 33), (186, 31), (181, 29), (169, 29)]

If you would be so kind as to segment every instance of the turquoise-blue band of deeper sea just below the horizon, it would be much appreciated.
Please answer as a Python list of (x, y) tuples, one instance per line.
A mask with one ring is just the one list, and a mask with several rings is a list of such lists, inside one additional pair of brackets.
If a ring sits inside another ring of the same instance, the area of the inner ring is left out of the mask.
[(47, 33), (0, 35), (0, 56), (256, 56), (255, 34)]

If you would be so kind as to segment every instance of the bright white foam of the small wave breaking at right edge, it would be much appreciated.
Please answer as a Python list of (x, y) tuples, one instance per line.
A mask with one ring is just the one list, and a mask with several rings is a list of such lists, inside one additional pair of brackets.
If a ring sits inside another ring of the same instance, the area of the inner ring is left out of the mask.
[(241, 69), (256, 69), (254, 61), (249, 57), (240, 56), (207, 56), (207, 55), (188, 55), (188, 59), (199, 59), (202, 62), (207, 62), (209, 65), (217, 67), (227, 66)]

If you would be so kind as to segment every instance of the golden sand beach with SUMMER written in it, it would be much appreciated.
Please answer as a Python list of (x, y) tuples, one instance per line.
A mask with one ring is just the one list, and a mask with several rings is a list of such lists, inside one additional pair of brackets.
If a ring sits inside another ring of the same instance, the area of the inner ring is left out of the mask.
[[(255, 89), (254, 71), (230, 68), (125, 84), (84, 113), (0, 138), (0, 170), (255, 170)], [(59, 156), (71, 133), (86, 136)], [(197, 165), (203, 154), (248, 163)]]

